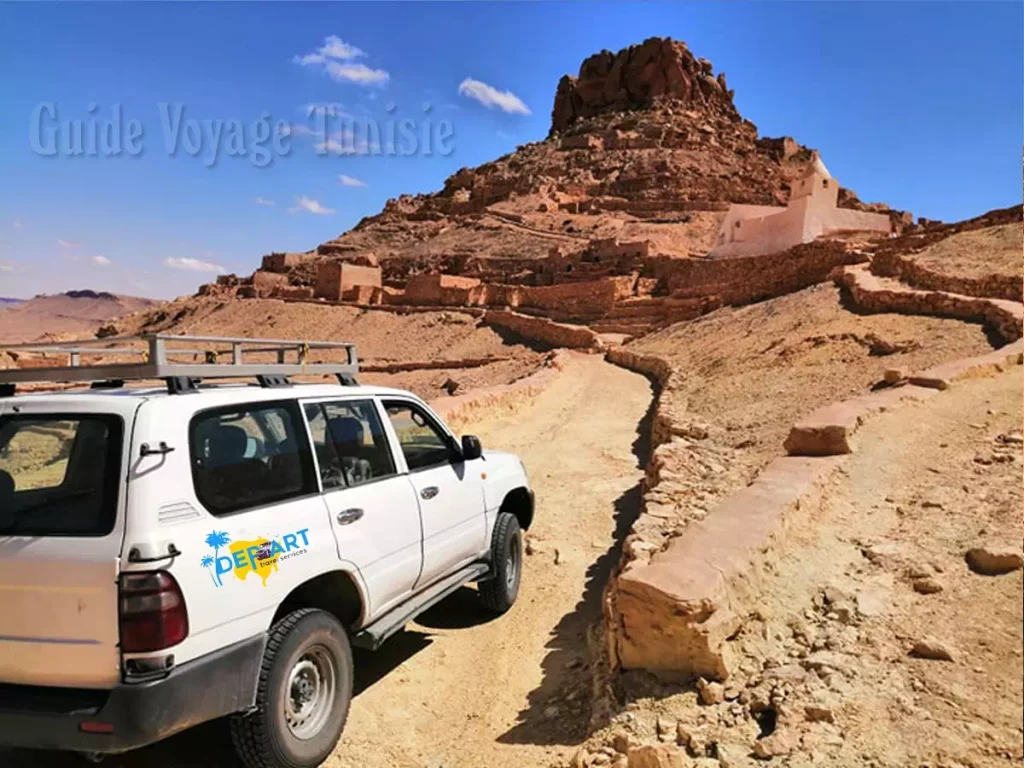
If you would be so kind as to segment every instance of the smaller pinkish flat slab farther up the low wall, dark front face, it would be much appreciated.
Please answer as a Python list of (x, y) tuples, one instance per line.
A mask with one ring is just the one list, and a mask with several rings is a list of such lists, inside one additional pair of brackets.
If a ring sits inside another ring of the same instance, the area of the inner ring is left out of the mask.
[(797, 422), (783, 445), (791, 456), (852, 454), (854, 433), (868, 416), (882, 413), (903, 400), (924, 400), (935, 393), (935, 389), (911, 384), (829, 403)]

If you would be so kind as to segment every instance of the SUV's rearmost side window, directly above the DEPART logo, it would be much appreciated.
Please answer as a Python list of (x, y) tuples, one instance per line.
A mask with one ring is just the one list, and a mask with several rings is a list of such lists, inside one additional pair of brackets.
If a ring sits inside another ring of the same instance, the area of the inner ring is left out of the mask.
[(202, 411), (188, 428), (196, 495), (213, 514), (315, 493), (312, 456), (295, 402)]

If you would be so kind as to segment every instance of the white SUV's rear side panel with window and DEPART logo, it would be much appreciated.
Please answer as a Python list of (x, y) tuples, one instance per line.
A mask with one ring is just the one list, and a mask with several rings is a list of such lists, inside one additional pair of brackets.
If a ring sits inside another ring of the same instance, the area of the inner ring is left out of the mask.
[(166, 537), (184, 553), (164, 566), (188, 606), (179, 664), (265, 632), (289, 593), (338, 561), (299, 402), (196, 410), (189, 397), (139, 411), (138, 438), (177, 450), (137, 463), (125, 540)]

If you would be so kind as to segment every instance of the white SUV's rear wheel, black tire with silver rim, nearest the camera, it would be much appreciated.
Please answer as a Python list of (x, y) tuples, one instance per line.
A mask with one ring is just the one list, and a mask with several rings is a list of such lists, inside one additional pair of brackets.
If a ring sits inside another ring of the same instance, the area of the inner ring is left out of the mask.
[[(321, 690), (310, 682), (309, 665), (316, 668), (313, 677), (317, 680), (326, 681), (334, 673), (333, 685), (323, 698), (309, 694)], [(321, 669), (321, 665), (331, 669)], [(297, 697), (302, 695), (324, 701), (314, 705), (314, 714), (309, 716), (313, 732), (308, 734), (301, 732), (305, 724), (297, 724), (294, 712)], [(248, 768), (317, 766), (338, 743), (351, 700), (352, 650), (345, 628), (327, 611), (294, 610), (270, 628), (256, 689), (256, 710), (230, 720), (234, 751)], [(293, 718), (292, 725), (286, 710)]]

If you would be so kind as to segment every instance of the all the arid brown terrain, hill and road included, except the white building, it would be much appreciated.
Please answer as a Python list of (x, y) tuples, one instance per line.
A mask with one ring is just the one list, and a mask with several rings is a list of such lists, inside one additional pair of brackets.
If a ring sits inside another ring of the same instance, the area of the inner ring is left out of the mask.
[[(354, 341), (362, 380), (523, 459), (519, 602), (465, 589), (358, 654), (327, 765), (1020, 765), (1024, 210), (841, 187), (890, 231), (710, 255), (819, 160), (655, 38), (563, 78), (542, 141), (69, 329)], [(108, 764), (236, 765), (216, 723)]]

